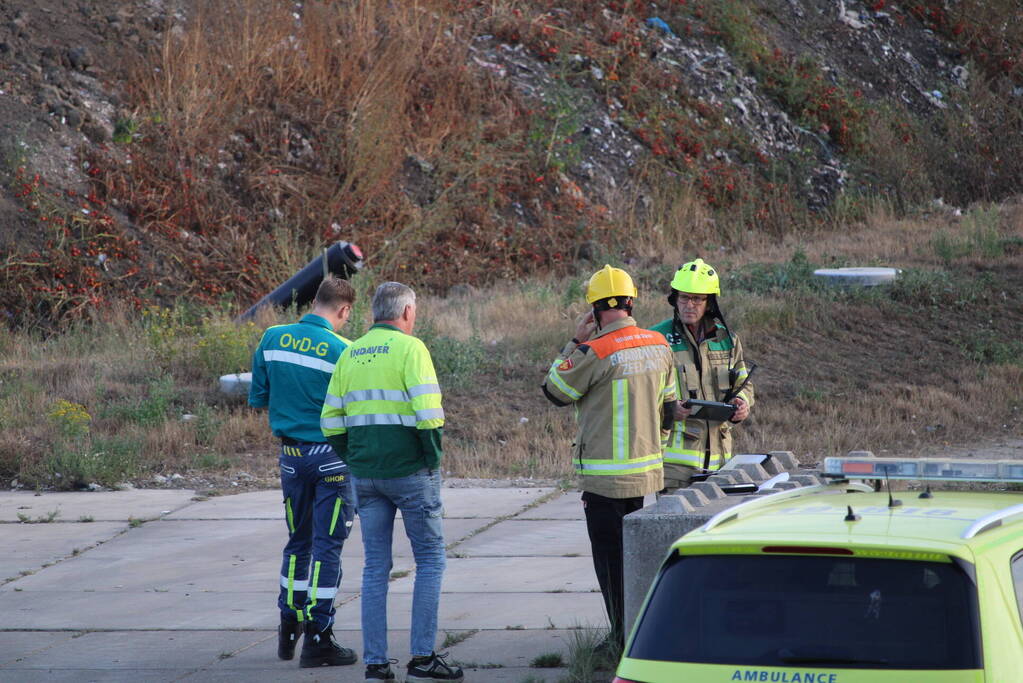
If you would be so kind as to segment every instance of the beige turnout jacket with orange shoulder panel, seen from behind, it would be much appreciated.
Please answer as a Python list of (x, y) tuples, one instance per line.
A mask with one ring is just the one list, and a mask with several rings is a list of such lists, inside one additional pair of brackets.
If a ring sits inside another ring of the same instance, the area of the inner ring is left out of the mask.
[(616, 320), (593, 338), (570, 343), (550, 366), (544, 395), (575, 404), (573, 460), (579, 488), (608, 498), (660, 491), (661, 424), (676, 397), (671, 349), (660, 332)]

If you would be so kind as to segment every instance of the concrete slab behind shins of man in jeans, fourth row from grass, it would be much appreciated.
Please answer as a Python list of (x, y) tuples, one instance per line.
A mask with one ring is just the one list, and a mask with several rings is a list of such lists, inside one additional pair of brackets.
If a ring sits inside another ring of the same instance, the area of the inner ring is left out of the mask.
[[(361, 598), (338, 610), (339, 629), (361, 628)], [(390, 593), (388, 624), (406, 628), (411, 593)], [(342, 613), (344, 611), (344, 613)], [(438, 616), (444, 631), (470, 629), (573, 629), (605, 625), (599, 593), (442, 593)]]

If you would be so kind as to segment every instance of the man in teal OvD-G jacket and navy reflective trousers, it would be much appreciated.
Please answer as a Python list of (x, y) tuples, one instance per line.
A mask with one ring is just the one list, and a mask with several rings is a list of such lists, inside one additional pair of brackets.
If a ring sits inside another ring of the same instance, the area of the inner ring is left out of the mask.
[(263, 333), (253, 355), (249, 404), (268, 407), (280, 440), (280, 486), (288, 540), (280, 570), (277, 656), (291, 659), (305, 631), (302, 667), (349, 665), (355, 652), (333, 641), (333, 600), (341, 582), (341, 548), (355, 515), (348, 468), (319, 428), (323, 395), (348, 340), (355, 290), (329, 276), (313, 309), (291, 325)]

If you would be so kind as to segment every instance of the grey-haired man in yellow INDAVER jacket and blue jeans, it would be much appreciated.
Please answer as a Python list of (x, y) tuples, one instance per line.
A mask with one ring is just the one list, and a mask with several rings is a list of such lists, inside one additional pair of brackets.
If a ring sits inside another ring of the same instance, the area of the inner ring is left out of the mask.
[(415, 292), (385, 282), (373, 294), (373, 326), (345, 351), (330, 378), (320, 426), (351, 468), (365, 567), (362, 644), (367, 681), (394, 680), (387, 651), (387, 590), (395, 513), (415, 556), (407, 681), (460, 681), (461, 669), (434, 651), (444, 575), (441, 429), (444, 409), (426, 345), (412, 336)]

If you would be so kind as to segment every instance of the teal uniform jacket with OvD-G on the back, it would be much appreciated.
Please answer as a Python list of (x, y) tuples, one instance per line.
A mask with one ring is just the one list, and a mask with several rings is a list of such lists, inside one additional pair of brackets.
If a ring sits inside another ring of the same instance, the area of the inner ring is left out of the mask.
[(323, 443), (319, 428), (323, 395), (348, 339), (335, 334), (325, 318), (308, 314), (291, 325), (263, 332), (253, 354), (249, 405), (270, 406), (275, 437)]

